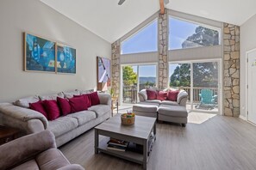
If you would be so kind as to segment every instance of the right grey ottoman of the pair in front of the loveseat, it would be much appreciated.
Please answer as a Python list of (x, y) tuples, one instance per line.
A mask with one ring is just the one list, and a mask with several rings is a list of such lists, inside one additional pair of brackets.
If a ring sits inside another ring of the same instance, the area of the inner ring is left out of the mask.
[(159, 106), (159, 120), (165, 122), (173, 122), (186, 126), (188, 123), (188, 112), (184, 106)]

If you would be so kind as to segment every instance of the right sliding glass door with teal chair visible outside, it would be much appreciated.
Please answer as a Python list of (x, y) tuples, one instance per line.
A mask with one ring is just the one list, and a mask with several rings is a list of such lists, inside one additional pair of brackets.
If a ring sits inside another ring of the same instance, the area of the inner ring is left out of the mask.
[(170, 87), (184, 89), (189, 94), (189, 111), (221, 111), (220, 62), (212, 60), (170, 64)]

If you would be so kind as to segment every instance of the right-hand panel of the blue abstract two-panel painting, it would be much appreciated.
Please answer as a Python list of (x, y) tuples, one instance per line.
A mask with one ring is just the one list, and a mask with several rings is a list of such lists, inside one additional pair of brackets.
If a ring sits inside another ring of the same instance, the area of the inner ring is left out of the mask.
[(57, 44), (57, 72), (76, 74), (76, 49)]

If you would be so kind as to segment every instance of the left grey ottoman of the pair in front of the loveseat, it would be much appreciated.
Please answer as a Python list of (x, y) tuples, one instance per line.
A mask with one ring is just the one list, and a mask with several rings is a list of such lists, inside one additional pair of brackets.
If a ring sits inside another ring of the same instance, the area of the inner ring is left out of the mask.
[(158, 104), (138, 103), (133, 106), (133, 112), (139, 116), (157, 118)]

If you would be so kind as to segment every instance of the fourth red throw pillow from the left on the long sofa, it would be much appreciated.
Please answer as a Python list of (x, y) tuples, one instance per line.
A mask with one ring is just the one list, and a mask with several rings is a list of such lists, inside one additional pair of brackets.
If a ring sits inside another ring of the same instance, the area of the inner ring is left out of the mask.
[(71, 112), (80, 112), (88, 109), (84, 96), (69, 99), (69, 104), (71, 106)]

